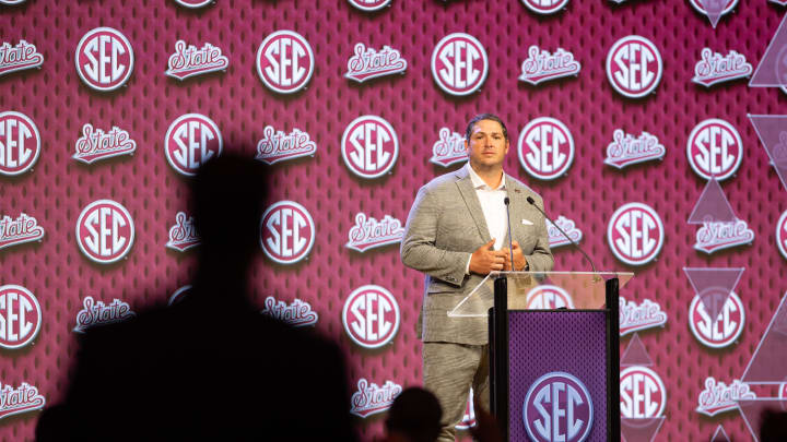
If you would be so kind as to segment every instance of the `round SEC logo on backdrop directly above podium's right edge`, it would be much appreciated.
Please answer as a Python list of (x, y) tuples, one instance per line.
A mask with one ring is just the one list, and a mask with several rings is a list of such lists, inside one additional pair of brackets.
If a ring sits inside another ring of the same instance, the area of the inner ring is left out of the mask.
[(629, 265), (644, 265), (655, 260), (663, 240), (661, 217), (642, 203), (621, 206), (607, 226), (607, 241), (612, 253)]

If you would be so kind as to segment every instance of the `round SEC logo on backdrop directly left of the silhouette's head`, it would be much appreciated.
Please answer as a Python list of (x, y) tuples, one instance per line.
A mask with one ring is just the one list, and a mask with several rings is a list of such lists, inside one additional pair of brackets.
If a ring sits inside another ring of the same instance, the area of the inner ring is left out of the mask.
[(131, 214), (111, 200), (90, 203), (77, 219), (77, 244), (87, 259), (98, 264), (121, 260), (133, 244)]

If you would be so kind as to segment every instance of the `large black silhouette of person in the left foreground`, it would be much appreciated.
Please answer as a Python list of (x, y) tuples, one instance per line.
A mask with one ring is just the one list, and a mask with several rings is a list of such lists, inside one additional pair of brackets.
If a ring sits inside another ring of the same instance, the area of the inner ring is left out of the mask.
[(247, 299), (266, 190), (254, 160), (225, 154), (200, 169), (193, 288), (172, 307), (89, 330), (38, 441), (356, 440), (339, 348)]

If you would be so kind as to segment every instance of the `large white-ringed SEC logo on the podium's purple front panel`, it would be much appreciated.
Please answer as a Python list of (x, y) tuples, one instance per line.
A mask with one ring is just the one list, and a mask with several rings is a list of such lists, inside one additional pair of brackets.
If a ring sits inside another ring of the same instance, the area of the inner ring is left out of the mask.
[(590, 393), (566, 372), (542, 375), (525, 396), (522, 420), (532, 441), (582, 442), (590, 434), (592, 418)]

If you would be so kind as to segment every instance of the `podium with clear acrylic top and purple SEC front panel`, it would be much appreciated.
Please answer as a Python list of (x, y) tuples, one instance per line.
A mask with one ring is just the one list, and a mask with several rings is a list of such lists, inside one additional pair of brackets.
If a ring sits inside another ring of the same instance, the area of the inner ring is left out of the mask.
[[(588, 442), (620, 440), (618, 302), (633, 276), (494, 272), (447, 312), (489, 318), (491, 405), (505, 440), (550, 440), (538, 433), (544, 428), (575, 437), (580, 431)], [(555, 401), (545, 407), (551, 379), (563, 379), (561, 385), (569, 380), (587, 397), (568, 404), (552, 393)], [(550, 419), (563, 427), (550, 429)]]

